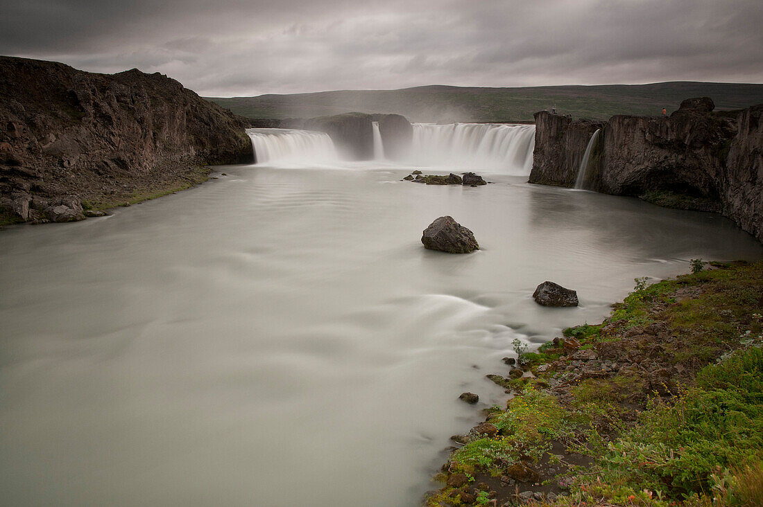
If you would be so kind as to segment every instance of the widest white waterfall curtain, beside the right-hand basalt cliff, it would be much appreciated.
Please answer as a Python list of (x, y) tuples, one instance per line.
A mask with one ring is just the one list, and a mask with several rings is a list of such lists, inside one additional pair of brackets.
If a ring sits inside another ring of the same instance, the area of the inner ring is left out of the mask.
[(533, 168), (535, 125), (413, 124), (410, 162), (510, 175)]

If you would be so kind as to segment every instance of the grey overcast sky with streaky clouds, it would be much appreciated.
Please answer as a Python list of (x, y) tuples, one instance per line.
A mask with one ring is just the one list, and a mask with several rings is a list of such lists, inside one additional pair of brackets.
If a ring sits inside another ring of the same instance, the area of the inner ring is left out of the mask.
[(200, 95), (763, 83), (763, 0), (0, 0), (0, 54)]

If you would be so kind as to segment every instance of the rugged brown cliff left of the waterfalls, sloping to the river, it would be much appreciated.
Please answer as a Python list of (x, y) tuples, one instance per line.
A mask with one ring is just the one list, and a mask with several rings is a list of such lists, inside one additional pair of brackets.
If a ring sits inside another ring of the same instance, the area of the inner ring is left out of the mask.
[(247, 162), (246, 119), (165, 75), (114, 75), (0, 56), (0, 207), (17, 220), (76, 220)]

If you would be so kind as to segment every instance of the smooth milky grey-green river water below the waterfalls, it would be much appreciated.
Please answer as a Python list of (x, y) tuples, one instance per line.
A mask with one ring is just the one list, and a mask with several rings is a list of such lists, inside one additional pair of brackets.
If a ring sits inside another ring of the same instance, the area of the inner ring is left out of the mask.
[[(513, 338), (600, 321), (690, 258), (763, 255), (715, 214), (410, 169), (226, 166), (0, 233), (3, 503), (418, 505), (449, 435), (504, 400), (485, 374)], [(423, 249), (444, 214), (481, 251)], [(536, 305), (545, 280), (581, 306)]]

